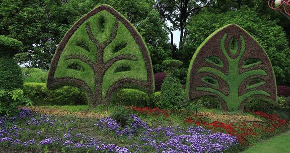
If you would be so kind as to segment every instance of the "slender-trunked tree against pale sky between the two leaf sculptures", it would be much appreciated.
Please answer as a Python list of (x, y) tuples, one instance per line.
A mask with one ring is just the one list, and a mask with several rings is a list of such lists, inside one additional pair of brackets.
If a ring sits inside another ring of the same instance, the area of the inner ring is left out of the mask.
[(213, 4), (211, 0), (193, 1), (193, 0), (158, 0), (156, 8), (158, 9), (161, 18), (164, 22), (169, 21), (172, 26), (167, 27), (171, 34), (171, 45), (174, 54), (173, 30), (180, 30), (179, 47), (183, 46), (183, 38), (186, 38), (187, 31), (185, 25), (189, 17), (196, 15), (202, 8)]

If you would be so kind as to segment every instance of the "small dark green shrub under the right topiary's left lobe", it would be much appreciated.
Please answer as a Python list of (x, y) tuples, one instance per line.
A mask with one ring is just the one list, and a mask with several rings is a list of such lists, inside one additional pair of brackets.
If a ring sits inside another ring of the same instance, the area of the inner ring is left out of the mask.
[(201, 105), (208, 109), (221, 108), (221, 102), (219, 98), (213, 96), (202, 96), (194, 99), (192, 103), (195, 105)]

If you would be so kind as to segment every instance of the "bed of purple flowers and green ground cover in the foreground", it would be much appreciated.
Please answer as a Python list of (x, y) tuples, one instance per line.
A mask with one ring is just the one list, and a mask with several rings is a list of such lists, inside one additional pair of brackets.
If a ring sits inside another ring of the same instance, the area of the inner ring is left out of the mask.
[(121, 127), (110, 117), (56, 118), (22, 109), (2, 116), (0, 126), (5, 152), (225, 152), (239, 145), (235, 136), (198, 126), (151, 127), (135, 115)]

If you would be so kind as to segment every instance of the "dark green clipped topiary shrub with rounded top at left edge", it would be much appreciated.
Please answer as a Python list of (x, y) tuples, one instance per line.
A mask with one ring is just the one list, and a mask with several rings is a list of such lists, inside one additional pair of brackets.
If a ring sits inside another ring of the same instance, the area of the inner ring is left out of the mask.
[(16, 39), (0, 35), (0, 90), (12, 90), (23, 87), (21, 68), (13, 59), (22, 43)]

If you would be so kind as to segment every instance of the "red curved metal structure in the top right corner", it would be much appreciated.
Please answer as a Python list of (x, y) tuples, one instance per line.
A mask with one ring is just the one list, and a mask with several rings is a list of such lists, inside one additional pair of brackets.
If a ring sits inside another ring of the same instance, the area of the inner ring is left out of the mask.
[(290, 0), (269, 0), (268, 5), (275, 11), (284, 11), (290, 16)]

